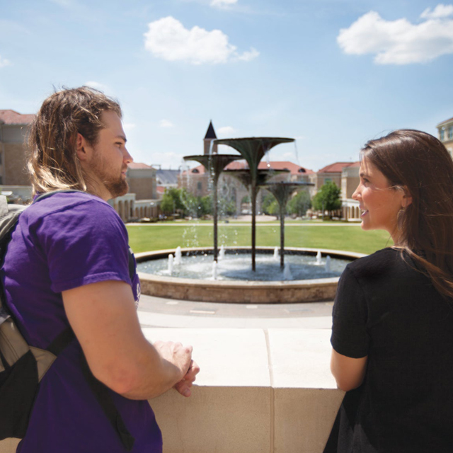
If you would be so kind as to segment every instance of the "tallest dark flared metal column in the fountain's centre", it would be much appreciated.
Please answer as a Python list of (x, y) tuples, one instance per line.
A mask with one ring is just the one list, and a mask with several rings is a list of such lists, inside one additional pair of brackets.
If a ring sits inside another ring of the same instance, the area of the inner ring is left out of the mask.
[(226, 144), (231, 148), (239, 151), (243, 159), (246, 159), (248, 164), (248, 175), (250, 179), (251, 202), (252, 202), (252, 238), (251, 238), (251, 253), (252, 253), (252, 270), (256, 270), (256, 197), (258, 195), (258, 185), (264, 181), (260, 181), (260, 173), (258, 164), (260, 164), (263, 156), (277, 144), (291, 143), (294, 139), (282, 137), (251, 137), (243, 139), (217, 139), (214, 144)]

